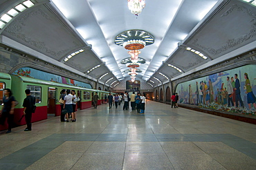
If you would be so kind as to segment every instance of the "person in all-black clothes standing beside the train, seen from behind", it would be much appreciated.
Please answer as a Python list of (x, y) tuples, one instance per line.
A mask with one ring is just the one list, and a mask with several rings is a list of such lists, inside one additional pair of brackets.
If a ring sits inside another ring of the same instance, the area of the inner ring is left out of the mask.
[(32, 129), (31, 119), (32, 119), (32, 113), (33, 113), (33, 107), (35, 106), (35, 97), (30, 95), (30, 89), (26, 89), (25, 93), (27, 97), (24, 99), (22, 106), (24, 107), (23, 113), (25, 115), (27, 127), (24, 131), (31, 131)]

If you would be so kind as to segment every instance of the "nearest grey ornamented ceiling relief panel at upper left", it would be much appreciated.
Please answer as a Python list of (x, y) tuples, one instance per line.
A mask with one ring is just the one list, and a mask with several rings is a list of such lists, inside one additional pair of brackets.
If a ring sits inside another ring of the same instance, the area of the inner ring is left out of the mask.
[[(62, 28), (59, 30), (58, 28)], [(38, 32), (37, 30), (40, 30)], [(61, 35), (68, 35), (68, 31), (57, 23), (53, 16), (48, 15), (41, 8), (33, 8), (33, 11), (24, 12), (4, 30), (3, 35), (19, 41), (21, 44), (39, 50), (54, 59), (60, 59), (68, 51), (81, 46), (73, 37), (62, 41), (57, 39)], [(10, 36), (11, 35), (11, 36)]]

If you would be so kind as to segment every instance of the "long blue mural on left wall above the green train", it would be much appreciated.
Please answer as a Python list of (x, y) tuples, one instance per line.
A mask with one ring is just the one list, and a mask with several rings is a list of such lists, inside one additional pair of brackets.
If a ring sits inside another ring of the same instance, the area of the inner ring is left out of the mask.
[(29, 68), (29, 67), (19, 68), (18, 70), (15, 70), (15, 73), (13, 73), (13, 74), (20, 75), (20, 76), (26, 76), (26, 77), (33, 77), (35, 79), (42, 79), (42, 80), (51, 81), (51, 82), (68, 84), (71, 86), (92, 88), (91, 84), (86, 84), (84, 82), (78, 82), (76, 80), (68, 79), (68, 78), (62, 77), (60, 75), (53, 75), (51, 73), (46, 73), (42, 70), (37, 70), (34, 68)]

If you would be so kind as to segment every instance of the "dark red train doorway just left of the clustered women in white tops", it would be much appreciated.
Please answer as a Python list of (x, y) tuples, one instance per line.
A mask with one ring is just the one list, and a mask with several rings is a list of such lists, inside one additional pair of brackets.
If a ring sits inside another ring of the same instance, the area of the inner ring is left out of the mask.
[(48, 117), (55, 116), (56, 91), (57, 89), (55, 87), (48, 87), (48, 106), (47, 106)]

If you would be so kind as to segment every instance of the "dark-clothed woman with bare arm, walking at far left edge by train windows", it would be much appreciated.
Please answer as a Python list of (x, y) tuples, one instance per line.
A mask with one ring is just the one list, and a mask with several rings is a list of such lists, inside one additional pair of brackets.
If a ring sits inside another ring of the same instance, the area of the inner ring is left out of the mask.
[(10, 91), (10, 88), (4, 89), (3, 94), (4, 97), (3, 106), (0, 113), (0, 124), (4, 125), (4, 123), (6, 122), (6, 118), (8, 118), (8, 131), (6, 131), (6, 133), (11, 133), (14, 119), (15, 97), (12, 95), (12, 91)]

